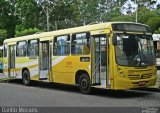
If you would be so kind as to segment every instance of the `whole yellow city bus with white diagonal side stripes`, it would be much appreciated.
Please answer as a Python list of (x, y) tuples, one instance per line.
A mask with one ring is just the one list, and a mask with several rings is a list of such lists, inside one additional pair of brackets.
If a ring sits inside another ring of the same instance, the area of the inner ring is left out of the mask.
[(147, 25), (107, 22), (4, 40), (3, 76), (114, 90), (155, 85)]

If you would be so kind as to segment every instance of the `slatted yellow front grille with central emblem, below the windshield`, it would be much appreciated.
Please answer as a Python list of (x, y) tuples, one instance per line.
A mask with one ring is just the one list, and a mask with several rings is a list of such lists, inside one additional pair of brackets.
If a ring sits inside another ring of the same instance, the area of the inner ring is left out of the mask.
[(130, 80), (138, 80), (138, 79), (148, 79), (152, 77), (152, 73), (142, 74), (142, 75), (128, 75)]

